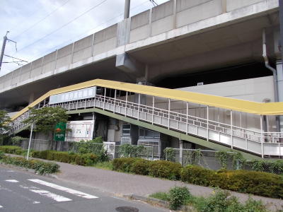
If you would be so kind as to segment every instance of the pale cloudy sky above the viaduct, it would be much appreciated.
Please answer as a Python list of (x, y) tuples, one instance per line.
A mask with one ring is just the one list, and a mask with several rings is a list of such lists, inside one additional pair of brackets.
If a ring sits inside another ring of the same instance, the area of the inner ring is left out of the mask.
[[(13, 42), (7, 42), (5, 54), (30, 62), (119, 22), (124, 4), (125, 0), (1, 0), (0, 45), (10, 31), (7, 37), (17, 42), (18, 51)], [(149, 0), (132, 0), (130, 16), (151, 7)], [(13, 59), (4, 57), (3, 61)], [(18, 67), (2, 64), (0, 76)]]

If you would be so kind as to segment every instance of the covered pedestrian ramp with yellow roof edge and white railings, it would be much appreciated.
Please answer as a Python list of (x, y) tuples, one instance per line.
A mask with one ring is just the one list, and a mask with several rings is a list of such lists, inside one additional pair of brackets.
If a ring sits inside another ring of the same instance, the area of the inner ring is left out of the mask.
[(12, 117), (13, 133), (26, 127), (23, 120), (30, 107), (58, 106), (69, 113), (99, 112), (209, 148), (232, 148), (262, 158), (283, 155), (283, 133), (268, 131), (275, 116), (283, 114), (283, 102), (250, 102), (100, 79), (50, 90)]

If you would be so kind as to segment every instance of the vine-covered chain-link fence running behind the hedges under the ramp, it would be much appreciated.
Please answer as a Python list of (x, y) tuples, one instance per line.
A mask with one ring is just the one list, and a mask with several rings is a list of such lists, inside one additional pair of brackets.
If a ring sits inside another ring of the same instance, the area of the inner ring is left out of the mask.
[[(29, 139), (24, 139), (13, 143), (14, 146), (28, 149)], [(166, 148), (164, 154), (159, 153), (158, 146), (143, 146), (137, 148), (137, 145), (129, 145), (130, 150), (136, 151), (125, 152), (125, 145), (120, 145), (115, 142), (104, 143), (86, 143), (86, 146), (78, 145), (79, 142), (51, 142), (43, 139), (32, 139), (30, 149), (35, 151), (45, 151), (50, 149), (57, 149), (57, 151), (71, 151), (74, 153), (107, 153), (110, 160), (114, 158), (123, 157), (139, 157), (147, 160), (170, 160), (176, 163), (186, 165), (200, 165), (202, 167), (219, 170), (226, 168), (229, 170), (255, 170), (261, 172), (271, 172), (282, 175), (282, 161), (277, 160), (275, 163), (272, 160), (254, 160), (245, 161), (243, 158), (237, 158), (237, 153), (234, 152), (218, 152), (201, 149), (179, 149), (179, 148)], [(82, 143), (83, 144), (83, 143)], [(240, 154), (241, 155), (241, 154)], [(162, 157), (161, 157), (162, 156)]]

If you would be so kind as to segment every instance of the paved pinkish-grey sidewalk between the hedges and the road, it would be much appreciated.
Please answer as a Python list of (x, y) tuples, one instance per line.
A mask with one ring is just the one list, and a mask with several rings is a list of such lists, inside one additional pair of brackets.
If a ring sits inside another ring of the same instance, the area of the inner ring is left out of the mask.
[[(73, 182), (86, 187), (92, 187), (100, 190), (101, 192), (109, 192), (117, 195), (136, 194), (139, 196), (148, 196), (155, 192), (168, 192), (168, 190), (174, 186), (186, 186), (190, 189), (190, 193), (194, 196), (209, 196), (214, 191), (214, 189), (210, 187), (185, 184), (180, 181), (132, 175), (122, 172), (102, 170), (96, 167), (71, 165), (69, 163), (60, 163), (56, 161), (52, 162), (60, 165), (60, 172), (54, 175), (57, 179), (66, 182)], [(272, 211), (283, 208), (283, 200), (281, 199), (272, 199), (237, 192), (231, 192), (231, 194), (233, 196), (237, 196), (241, 201), (246, 201), (248, 196), (251, 196), (256, 200), (261, 200), (264, 204), (267, 204)]]

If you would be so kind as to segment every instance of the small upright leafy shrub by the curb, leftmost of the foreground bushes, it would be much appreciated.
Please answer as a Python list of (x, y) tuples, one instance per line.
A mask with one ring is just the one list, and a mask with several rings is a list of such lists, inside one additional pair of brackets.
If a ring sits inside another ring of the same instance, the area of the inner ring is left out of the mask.
[(190, 199), (187, 187), (173, 187), (169, 191), (169, 207), (173, 210), (180, 208)]

